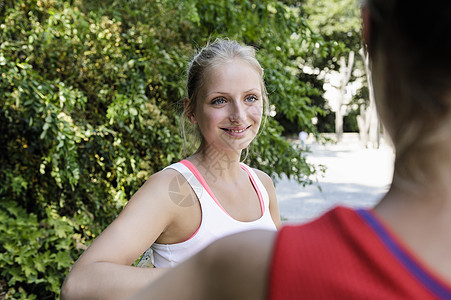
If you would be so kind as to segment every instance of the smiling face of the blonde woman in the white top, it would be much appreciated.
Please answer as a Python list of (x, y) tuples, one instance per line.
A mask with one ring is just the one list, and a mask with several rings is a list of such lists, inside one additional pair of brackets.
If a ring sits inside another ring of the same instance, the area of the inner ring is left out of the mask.
[(245, 61), (213, 67), (190, 118), (199, 125), (204, 146), (240, 152), (256, 136), (263, 112), (260, 75)]

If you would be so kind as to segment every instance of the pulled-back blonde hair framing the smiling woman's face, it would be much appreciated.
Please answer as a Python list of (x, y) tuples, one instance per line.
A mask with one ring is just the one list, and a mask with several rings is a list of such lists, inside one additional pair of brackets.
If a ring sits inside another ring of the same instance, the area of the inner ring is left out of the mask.
[(196, 109), (199, 100), (199, 90), (206, 81), (208, 71), (231, 60), (241, 59), (247, 62), (260, 75), (260, 87), (263, 98), (263, 126), (267, 116), (269, 101), (263, 80), (263, 68), (256, 59), (255, 53), (255, 49), (251, 46), (242, 45), (234, 40), (218, 38), (213, 43), (208, 43), (191, 60), (188, 65), (186, 79), (188, 103), (181, 115), (181, 130), (184, 143), (183, 154), (187, 155), (195, 151), (203, 139), (197, 125), (194, 126), (188, 121), (188, 116)]

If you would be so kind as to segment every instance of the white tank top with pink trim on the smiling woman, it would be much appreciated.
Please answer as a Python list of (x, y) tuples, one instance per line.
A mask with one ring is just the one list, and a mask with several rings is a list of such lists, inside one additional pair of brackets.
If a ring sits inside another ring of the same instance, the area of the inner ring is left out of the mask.
[(268, 193), (255, 172), (244, 163), (241, 163), (241, 168), (249, 175), (262, 212), (259, 219), (251, 222), (241, 222), (232, 218), (215, 198), (196, 167), (188, 160), (182, 160), (166, 168), (180, 172), (196, 193), (202, 211), (201, 224), (197, 231), (184, 242), (152, 244), (144, 252), (138, 267), (149, 266), (149, 263), (157, 268), (174, 267), (224, 236), (251, 229), (276, 230), (269, 212)]

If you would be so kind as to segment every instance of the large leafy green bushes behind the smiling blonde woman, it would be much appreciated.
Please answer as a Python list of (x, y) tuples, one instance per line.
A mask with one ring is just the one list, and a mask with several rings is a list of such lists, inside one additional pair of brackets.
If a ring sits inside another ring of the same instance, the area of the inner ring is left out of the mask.
[[(320, 110), (298, 59), (330, 44), (280, 1), (0, 0), (0, 272), (8, 299), (55, 298), (81, 251), (154, 172), (181, 159), (187, 60), (215, 37), (254, 45), (277, 113)], [(319, 45), (319, 46), (318, 46)], [(249, 162), (309, 183), (269, 117)]]

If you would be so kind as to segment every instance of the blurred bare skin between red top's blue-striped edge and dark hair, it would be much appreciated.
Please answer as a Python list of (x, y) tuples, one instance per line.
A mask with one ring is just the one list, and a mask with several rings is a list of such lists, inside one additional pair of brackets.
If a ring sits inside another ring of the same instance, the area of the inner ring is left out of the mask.
[(436, 274), (451, 283), (451, 188), (392, 185), (375, 211), (390, 230)]

